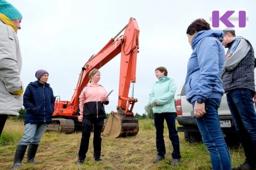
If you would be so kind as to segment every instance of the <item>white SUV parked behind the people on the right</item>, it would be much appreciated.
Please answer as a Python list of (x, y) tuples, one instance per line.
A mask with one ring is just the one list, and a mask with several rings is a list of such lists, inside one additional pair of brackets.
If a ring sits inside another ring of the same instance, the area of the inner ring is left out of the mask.
[[(179, 91), (177, 92), (176, 111), (177, 122), (179, 125), (182, 125), (177, 127), (177, 131), (184, 132), (185, 141), (200, 142), (202, 140), (201, 134), (198, 130), (197, 123), (193, 118), (194, 111), (192, 105), (186, 100), (184, 83), (181, 85)], [(227, 105), (226, 94), (222, 96), (221, 106), (218, 108), (218, 115), (226, 142), (232, 142), (234, 139), (239, 139), (230, 110)], [(239, 142), (239, 140), (237, 141)]]

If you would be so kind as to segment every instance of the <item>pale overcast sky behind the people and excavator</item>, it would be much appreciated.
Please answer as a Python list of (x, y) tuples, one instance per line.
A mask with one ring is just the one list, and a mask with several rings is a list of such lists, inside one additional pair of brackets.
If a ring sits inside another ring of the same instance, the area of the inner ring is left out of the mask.
[[(237, 35), (256, 48), (254, 0), (8, 0), (23, 15), (18, 31), (23, 57), (21, 79), (25, 87), (36, 80), (35, 71), (49, 72), (54, 95), (71, 100), (81, 67), (134, 17), (140, 28), (137, 82), (133, 112), (143, 114), (157, 78), (155, 68), (165, 66), (177, 91), (186, 77), (192, 53), (186, 28), (197, 18), (211, 24), (213, 10), (246, 11), (247, 27)], [(221, 14), (220, 14), (221, 15)], [(233, 21), (232, 21), (233, 22)], [(101, 83), (110, 95), (106, 112), (116, 111), (120, 55), (100, 68)], [(131, 90), (130, 90), (131, 91)], [(130, 95), (131, 96), (131, 95)]]

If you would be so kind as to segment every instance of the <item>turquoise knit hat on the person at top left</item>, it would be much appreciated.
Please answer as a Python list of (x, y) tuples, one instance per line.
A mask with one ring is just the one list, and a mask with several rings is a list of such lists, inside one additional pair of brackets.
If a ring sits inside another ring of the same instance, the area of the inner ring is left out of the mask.
[(0, 0), (0, 13), (5, 14), (10, 20), (22, 19), (20, 12), (6, 0)]

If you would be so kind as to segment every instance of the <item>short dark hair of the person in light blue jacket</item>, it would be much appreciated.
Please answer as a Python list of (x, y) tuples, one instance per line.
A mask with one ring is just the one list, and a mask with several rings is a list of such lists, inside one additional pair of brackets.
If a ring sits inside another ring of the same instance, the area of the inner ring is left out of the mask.
[(202, 30), (209, 30), (210, 24), (206, 22), (203, 18), (198, 18), (194, 20), (187, 28), (186, 34), (193, 35), (195, 31), (199, 32)]

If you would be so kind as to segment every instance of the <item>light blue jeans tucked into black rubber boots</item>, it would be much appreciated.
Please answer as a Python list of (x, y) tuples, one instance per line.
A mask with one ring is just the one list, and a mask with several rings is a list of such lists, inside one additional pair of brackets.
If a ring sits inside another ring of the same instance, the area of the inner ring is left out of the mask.
[(40, 140), (47, 127), (47, 123), (25, 125), (23, 137), (20, 139), (18, 145), (40, 144)]

